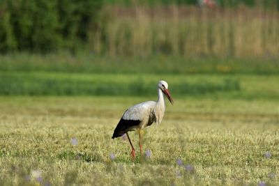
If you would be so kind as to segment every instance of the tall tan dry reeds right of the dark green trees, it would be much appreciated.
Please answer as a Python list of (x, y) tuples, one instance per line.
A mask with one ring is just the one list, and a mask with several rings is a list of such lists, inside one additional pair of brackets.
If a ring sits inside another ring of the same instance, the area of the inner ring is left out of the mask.
[[(278, 56), (278, 11), (107, 6), (91, 47), (111, 56)], [(105, 38), (105, 40), (104, 40)]]

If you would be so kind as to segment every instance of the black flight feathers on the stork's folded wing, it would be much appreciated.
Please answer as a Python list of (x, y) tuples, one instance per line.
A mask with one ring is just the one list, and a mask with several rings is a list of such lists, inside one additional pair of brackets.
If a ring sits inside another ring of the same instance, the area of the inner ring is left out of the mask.
[(140, 120), (125, 120), (121, 118), (116, 128), (114, 129), (114, 134), (112, 134), (112, 139), (116, 137), (121, 137), (128, 131), (134, 130), (135, 126), (140, 125)]

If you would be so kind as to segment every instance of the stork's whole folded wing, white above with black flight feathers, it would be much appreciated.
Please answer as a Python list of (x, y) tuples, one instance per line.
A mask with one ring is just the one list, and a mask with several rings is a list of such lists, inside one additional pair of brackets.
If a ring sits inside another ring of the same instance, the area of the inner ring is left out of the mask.
[(137, 125), (140, 125), (144, 120), (144, 117), (149, 117), (150, 111), (155, 105), (156, 102), (153, 101), (142, 102), (126, 110), (114, 130), (112, 139), (121, 137), (128, 131), (135, 130)]

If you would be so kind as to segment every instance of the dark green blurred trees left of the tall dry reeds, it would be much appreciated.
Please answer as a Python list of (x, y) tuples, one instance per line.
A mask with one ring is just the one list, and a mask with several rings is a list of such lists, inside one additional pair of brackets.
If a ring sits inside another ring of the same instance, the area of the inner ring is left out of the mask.
[(96, 26), (102, 0), (1, 0), (0, 52), (75, 49)]

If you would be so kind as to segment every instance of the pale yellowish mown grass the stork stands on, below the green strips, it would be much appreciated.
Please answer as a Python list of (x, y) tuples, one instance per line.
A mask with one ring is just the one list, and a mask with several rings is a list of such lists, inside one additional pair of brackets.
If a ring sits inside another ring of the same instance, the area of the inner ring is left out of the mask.
[(152, 153), (142, 164), (130, 133), (134, 163), (128, 141), (111, 136), (123, 111), (148, 99), (0, 97), (0, 185), (38, 185), (36, 173), (51, 185), (279, 184), (278, 100), (175, 98), (144, 130)]

